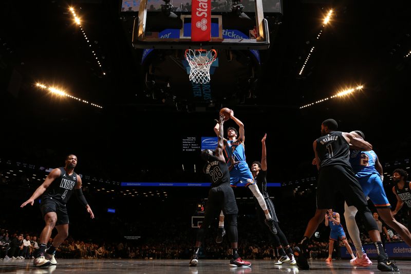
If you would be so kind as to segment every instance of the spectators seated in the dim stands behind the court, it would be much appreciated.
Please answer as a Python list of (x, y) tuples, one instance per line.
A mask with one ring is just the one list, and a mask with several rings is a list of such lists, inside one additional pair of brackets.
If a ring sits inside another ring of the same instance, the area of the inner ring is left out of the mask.
[[(175, 238), (169, 238), (169, 236), (162, 238), (159, 236), (147, 238), (144, 243), (138, 241), (97, 243), (92, 240), (74, 240), (69, 236), (57, 249), (56, 255), (57, 258), (62, 259), (189, 259), (195, 241), (195, 233), (193, 232), (196, 230), (183, 231), (177, 226), (171, 226), (167, 230), (167, 233), (164, 234), (175, 234)], [(4, 260), (33, 258), (33, 252), (39, 248), (38, 238), (35, 235), (17, 232), (9, 234), (4, 229), (0, 233), (0, 257)], [(246, 232), (241, 231), (240, 235), (241, 233)], [(211, 231), (203, 249), (200, 251), (200, 257), (207, 259), (230, 258), (231, 250), (228, 243), (216, 244), (214, 236), (215, 233)], [(275, 260), (276, 248), (269, 241), (263, 240), (264, 238), (261, 233), (248, 233), (247, 237), (240, 239), (238, 247), (242, 257), (245, 259)], [(327, 235), (324, 235), (322, 239), (316, 239), (315, 237), (312, 239), (309, 245), (310, 259), (325, 259), (328, 257), (328, 240), (326, 238)], [(365, 234), (362, 234), (362, 240), (363, 243), (370, 242)], [(401, 241), (401, 239), (394, 234), (389, 241)], [(47, 245), (50, 246), (51, 243), (52, 239), (50, 238)], [(295, 245), (295, 243), (290, 244), (291, 246)], [(350, 244), (352, 245), (351, 242)], [(340, 245), (343, 246), (342, 243)], [(341, 258), (340, 248), (335, 248), (334, 252), (334, 258)]]

